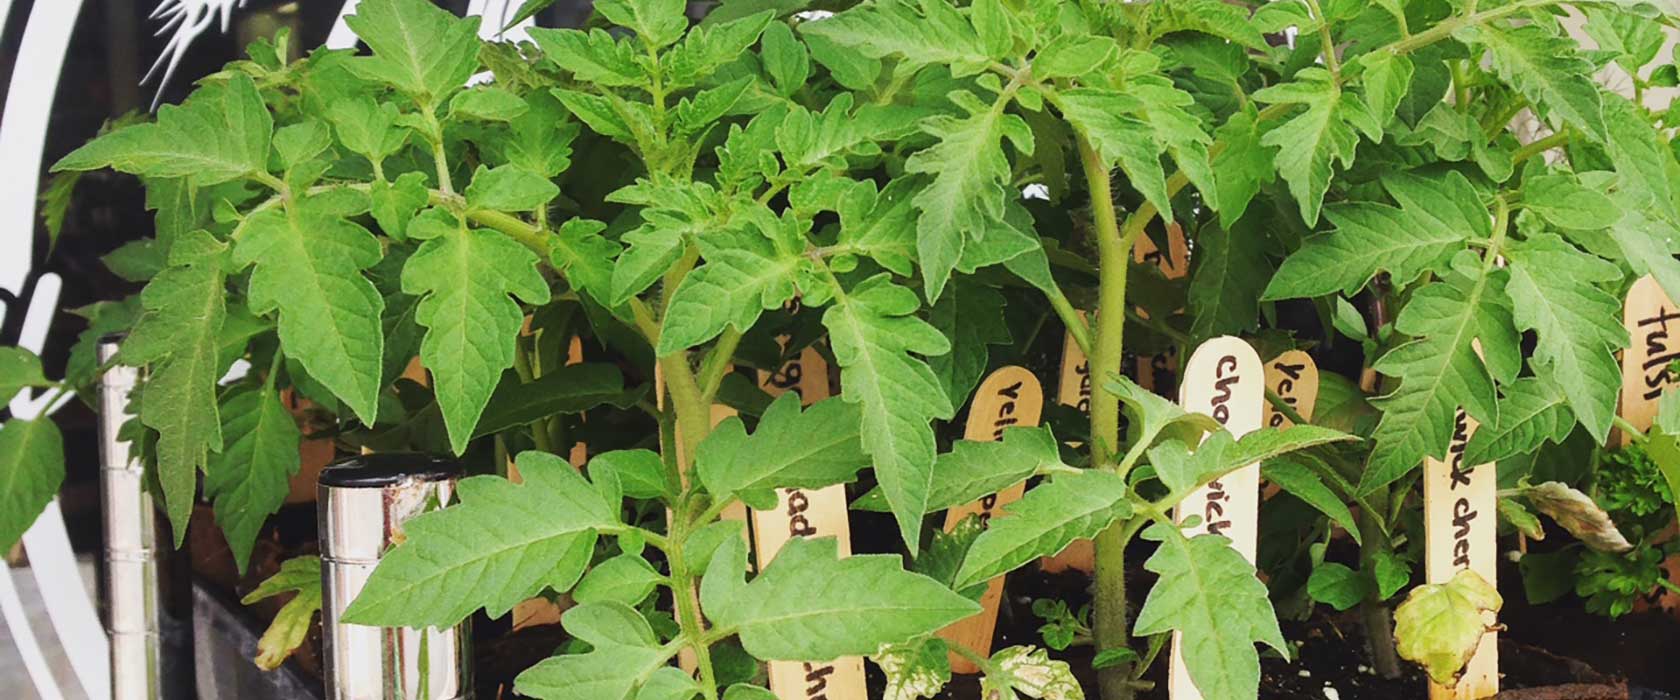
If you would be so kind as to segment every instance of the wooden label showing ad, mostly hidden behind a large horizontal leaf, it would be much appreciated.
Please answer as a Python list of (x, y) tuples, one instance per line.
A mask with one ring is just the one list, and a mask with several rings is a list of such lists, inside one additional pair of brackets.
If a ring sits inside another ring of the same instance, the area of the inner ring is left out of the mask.
[[(828, 398), (828, 361), (815, 347), (806, 347), (776, 371), (759, 371), (758, 386), (771, 396), (798, 391), (800, 403), (810, 406)], [(795, 537), (835, 537), (840, 556), (852, 556), (845, 485), (781, 488), (773, 510), (753, 510), (753, 547), (759, 566), (769, 564)], [(862, 656), (816, 663), (769, 661), (769, 690), (781, 700), (869, 698)]]

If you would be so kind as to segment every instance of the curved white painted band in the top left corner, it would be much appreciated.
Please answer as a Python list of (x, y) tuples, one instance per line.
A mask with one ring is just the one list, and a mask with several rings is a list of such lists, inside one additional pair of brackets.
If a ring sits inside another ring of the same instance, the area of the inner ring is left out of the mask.
[(0, 121), (0, 153), (15, 173), (0, 183), (0, 289), (22, 294), (35, 252), (35, 196), (40, 191), (40, 159), (47, 141), (47, 116), (59, 91), (64, 52), (82, 0), (37, 2), (24, 29), (24, 44), (12, 72), (12, 91)]

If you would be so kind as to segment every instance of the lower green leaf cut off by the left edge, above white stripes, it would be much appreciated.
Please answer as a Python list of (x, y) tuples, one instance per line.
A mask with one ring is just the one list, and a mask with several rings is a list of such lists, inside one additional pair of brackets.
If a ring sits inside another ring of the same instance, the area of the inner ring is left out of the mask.
[(64, 483), (64, 436), (47, 418), (0, 426), (0, 546), (12, 549)]

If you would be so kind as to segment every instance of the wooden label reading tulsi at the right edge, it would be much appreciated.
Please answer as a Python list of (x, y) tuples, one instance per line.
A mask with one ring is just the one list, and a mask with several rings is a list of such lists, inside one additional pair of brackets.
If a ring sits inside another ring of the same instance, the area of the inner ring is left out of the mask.
[[(1675, 386), (1668, 364), (1680, 359), (1680, 306), (1675, 306), (1651, 275), (1640, 277), (1628, 290), (1621, 321), (1631, 344), (1621, 351), (1621, 418), (1635, 428), (1650, 430), (1656, 418), (1656, 400)], [(1628, 436), (1616, 431), (1616, 443)]]

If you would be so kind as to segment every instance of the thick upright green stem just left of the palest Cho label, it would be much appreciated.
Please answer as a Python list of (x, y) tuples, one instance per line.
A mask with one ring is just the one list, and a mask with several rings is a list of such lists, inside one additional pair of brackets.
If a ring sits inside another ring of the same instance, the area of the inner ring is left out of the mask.
[[(1109, 186), (1109, 168), (1085, 138), (1079, 139), (1079, 156), (1085, 168), (1090, 190), (1090, 212), (1095, 220), (1099, 264), (1097, 332), (1090, 347), (1090, 376), (1097, 391), (1090, 394), (1090, 457), (1094, 468), (1114, 470), (1121, 438), (1121, 400), (1100, 386), (1121, 373), (1126, 349), (1126, 272), (1131, 267), (1131, 247), (1136, 230), (1142, 225), (1119, 228), (1114, 213), (1114, 193)], [(1136, 215), (1134, 215), (1136, 217)], [(1131, 223), (1131, 222), (1127, 222)], [(1136, 228), (1136, 230), (1134, 230)], [(1114, 524), (1095, 539), (1097, 596), (1092, 611), (1092, 631), (1097, 650), (1127, 646), (1129, 609), (1126, 601), (1126, 527)], [(1107, 666), (1097, 671), (1104, 700), (1131, 700), (1131, 665)]]

